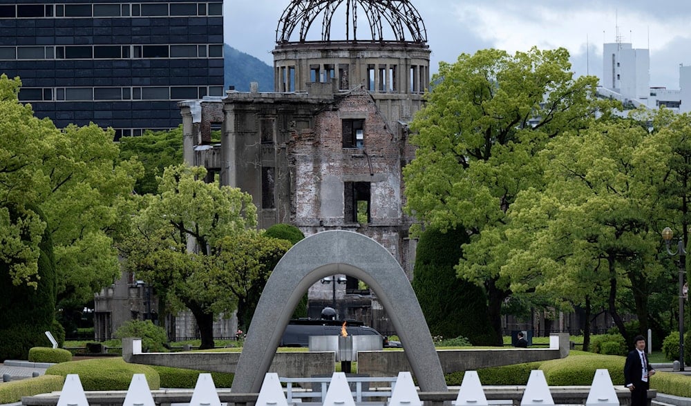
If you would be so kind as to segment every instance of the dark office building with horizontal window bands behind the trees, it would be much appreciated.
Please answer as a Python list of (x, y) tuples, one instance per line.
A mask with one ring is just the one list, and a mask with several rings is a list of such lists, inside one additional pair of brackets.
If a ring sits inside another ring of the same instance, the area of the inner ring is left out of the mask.
[(0, 73), (58, 127), (174, 128), (177, 101), (223, 95), (223, 0), (3, 0)]

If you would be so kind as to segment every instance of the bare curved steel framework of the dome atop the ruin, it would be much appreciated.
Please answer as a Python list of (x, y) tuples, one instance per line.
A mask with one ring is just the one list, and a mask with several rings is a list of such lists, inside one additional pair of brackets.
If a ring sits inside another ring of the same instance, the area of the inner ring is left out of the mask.
[[(321, 16), (321, 41), (331, 41), (331, 23), (339, 6), (345, 6), (345, 40), (357, 41), (358, 16), (364, 14), (370, 25), (371, 38), (366, 41), (400, 41), (426, 43), (427, 32), (419, 12), (408, 0), (292, 0), (285, 8), (276, 28), (276, 43), (291, 41), (299, 26), (299, 38), (307, 41), (307, 32)], [(384, 38), (388, 23), (395, 38)], [(406, 35), (410, 39), (406, 39)], [(340, 39), (339, 39), (340, 40)]]

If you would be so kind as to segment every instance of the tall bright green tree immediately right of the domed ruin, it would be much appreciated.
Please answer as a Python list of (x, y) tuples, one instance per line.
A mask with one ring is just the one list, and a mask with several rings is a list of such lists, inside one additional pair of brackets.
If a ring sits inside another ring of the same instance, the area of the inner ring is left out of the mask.
[(457, 272), (485, 288), (496, 345), (502, 302), (511, 293), (500, 273), (507, 211), (520, 191), (542, 187), (534, 157), (549, 139), (585, 128), (606, 105), (596, 101), (598, 79), (574, 79), (570, 69), (564, 48), (460, 55), (439, 64), (428, 102), (411, 124), (418, 148), (404, 168), (406, 211), (436, 229), (471, 233)]

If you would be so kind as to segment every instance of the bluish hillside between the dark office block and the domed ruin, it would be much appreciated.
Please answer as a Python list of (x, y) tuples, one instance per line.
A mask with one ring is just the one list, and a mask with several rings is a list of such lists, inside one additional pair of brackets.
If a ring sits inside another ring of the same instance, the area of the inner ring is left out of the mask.
[(225, 55), (225, 88), (235, 86), (238, 92), (249, 92), (249, 84), (256, 81), (260, 92), (274, 91), (274, 68), (260, 59), (229, 46), (223, 46)]

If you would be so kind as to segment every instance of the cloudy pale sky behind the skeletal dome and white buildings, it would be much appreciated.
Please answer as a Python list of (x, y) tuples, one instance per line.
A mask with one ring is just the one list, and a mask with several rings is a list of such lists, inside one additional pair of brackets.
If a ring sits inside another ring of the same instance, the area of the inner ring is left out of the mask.
[[(267, 64), (278, 19), (290, 0), (225, 0), (225, 42)], [(563, 46), (578, 75), (602, 76), (603, 42), (650, 49), (650, 86), (679, 88), (679, 65), (691, 65), (688, 0), (411, 0), (427, 31), (430, 68), (484, 48), (515, 52)], [(343, 6), (339, 9), (343, 10)], [(343, 11), (344, 13), (344, 11)], [(312, 27), (319, 35), (321, 19)], [(343, 39), (332, 25), (332, 39)], [(312, 31), (310, 30), (310, 32)], [(341, 29), (343, 30), (343, 29)], [(359, 31), (360, 32), (360, 31)], [(341, 37), (337, 38), (337, 35)], [(589, 51), (588, 51), (589, 50)]]

